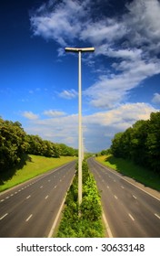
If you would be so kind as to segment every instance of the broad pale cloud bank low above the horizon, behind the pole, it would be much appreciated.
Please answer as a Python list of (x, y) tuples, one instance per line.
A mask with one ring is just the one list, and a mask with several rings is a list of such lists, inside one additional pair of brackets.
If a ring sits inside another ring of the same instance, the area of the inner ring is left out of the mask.
[[(125, 131), (137, 120), (149, 119), (151, 112), (157, 110), (146, 103), (123, 104), (117, 108), (96, 112), (83, 117), (83, 134), (85, 148), (98, 152), (111, 144), (115, 133)], [(39, 134), (55, 143), (78, 146), (78, 115), (58, 116), (47, 119), (32, 119), (25, 128), (27, 133)]]

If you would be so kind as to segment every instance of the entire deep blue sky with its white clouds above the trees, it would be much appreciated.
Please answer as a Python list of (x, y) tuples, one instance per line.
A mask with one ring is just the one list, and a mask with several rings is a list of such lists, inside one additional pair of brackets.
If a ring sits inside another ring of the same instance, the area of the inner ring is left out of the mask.
[(160, 1), (2, 1), (0, 116), (77, 148), (76, 54), (83, 54), (85, 150), (160, 107)]

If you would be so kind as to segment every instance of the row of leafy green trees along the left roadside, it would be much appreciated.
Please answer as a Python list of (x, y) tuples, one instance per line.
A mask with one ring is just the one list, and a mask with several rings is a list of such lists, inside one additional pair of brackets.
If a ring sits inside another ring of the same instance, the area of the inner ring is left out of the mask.
[(24, 155), (60, 157), (77, 154), (77, 149), (27, 134), (21, 123), (0, 118), (0, 171), (15, 167), (24, 159)]

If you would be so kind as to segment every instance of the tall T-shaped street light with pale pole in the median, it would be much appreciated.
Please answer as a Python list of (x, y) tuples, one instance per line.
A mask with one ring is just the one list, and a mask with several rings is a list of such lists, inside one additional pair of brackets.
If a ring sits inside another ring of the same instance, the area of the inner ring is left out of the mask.
[(66, 52), (78, 53), (78, 203), (82, 203), (82, 75), (81, 53), (94, 52), (95, 48), (65, 48)]

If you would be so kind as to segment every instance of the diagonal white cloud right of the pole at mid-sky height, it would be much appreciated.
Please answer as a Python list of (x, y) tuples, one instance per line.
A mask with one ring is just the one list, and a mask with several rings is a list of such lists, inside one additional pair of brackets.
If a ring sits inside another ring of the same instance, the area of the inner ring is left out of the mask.
[(160, 63), (145, 63), (143, 60), (122, 61), (116, 69), (123, 69), (119, 75), (110, 78), (101, 76), (84, 94), (96, 108), (113, 108), (125, 100), (129, 91), (142, 80), (160, 72)]

